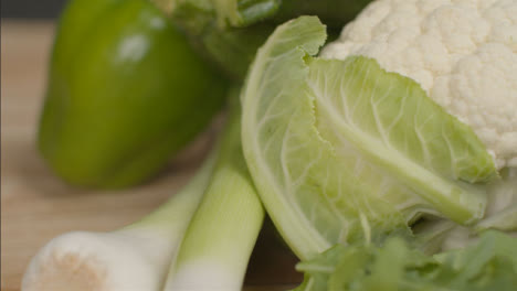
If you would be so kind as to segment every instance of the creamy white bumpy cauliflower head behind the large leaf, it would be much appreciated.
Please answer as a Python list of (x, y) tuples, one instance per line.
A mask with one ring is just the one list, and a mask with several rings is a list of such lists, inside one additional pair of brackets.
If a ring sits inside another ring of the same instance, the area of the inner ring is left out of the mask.
[(378, 0), (321, 56), (376, 58), (468, 125), (498, 169), (517, 166), (517, 1)]

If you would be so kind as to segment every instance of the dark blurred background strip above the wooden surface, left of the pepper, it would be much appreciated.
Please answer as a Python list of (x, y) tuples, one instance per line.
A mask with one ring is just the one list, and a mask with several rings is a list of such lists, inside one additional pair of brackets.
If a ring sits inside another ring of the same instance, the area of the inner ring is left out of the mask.
[(59, 15), (67, 0), (1, 0), (2, 18), (49, 19)]

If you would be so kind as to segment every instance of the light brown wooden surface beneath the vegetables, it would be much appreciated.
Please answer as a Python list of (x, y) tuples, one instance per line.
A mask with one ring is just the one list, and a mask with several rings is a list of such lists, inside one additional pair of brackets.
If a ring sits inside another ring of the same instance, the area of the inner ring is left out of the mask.
[[(154, 181), (124, 191), (66, 185), (35, 148), (54, 24), (1, 24), (1, 290), (18, 291), (30, 258), (51, 238), (71, 230), (109, 231), (130, 224), (173, 195), (209, 148), (208, 130)], [(268, 225), (246, 276), (246, 291), (286, 290), (302, 277), (296, 258)]]

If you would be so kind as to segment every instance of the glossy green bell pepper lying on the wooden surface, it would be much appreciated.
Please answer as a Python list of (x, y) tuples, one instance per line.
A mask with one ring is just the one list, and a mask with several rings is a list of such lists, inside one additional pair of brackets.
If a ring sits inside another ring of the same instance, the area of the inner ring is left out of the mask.
[(221, 108), (228, 82), (147, 0), (73, 0), (50, 64), (39, 147), (72, 184), (156, 174)]

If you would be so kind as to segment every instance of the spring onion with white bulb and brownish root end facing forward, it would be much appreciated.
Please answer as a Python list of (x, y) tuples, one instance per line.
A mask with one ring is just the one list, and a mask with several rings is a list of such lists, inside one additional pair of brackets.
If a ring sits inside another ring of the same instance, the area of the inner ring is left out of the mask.
[(214, 162), (212, 153), (184, 188), (133, 225), (113, 233), (73, 231), (54, 238), (30, 262), (22, 290), (160, 290)]

